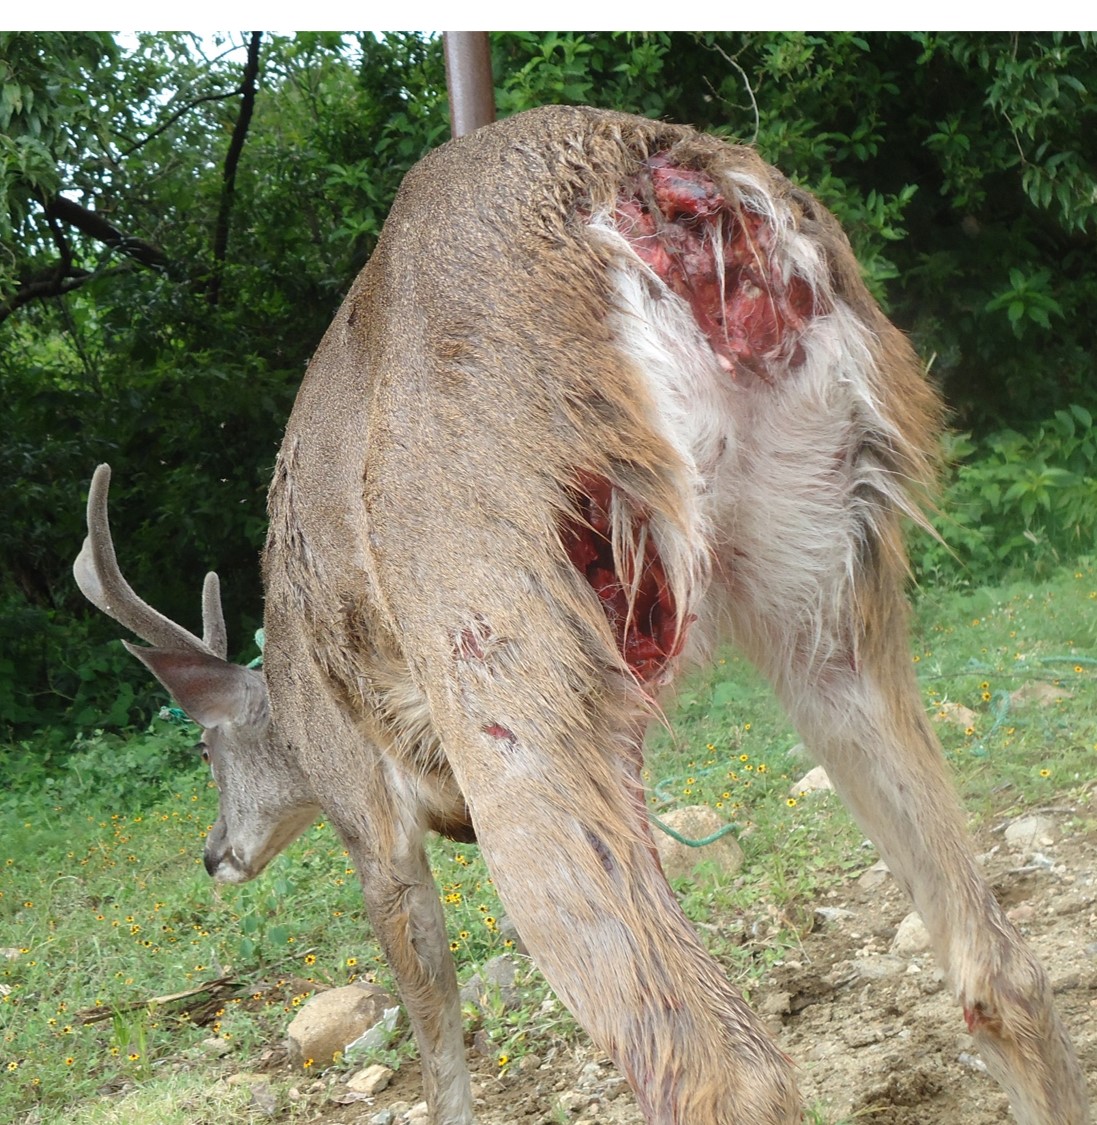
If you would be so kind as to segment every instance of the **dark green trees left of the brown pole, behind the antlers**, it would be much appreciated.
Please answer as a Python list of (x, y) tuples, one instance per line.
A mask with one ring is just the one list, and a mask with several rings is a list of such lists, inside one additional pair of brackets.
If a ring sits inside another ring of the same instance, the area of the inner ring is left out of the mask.
[[(0, 36), (0, 721), (18, 729), (151, 699), (70, 575), (99, 461), (134, 586), (197, 627), (216, 568), (249, 649), (296, 386), (403, 173), (446, 137), (435, 42), (203, 47)], [(105, 705), (111, 673), (129, 686)]]

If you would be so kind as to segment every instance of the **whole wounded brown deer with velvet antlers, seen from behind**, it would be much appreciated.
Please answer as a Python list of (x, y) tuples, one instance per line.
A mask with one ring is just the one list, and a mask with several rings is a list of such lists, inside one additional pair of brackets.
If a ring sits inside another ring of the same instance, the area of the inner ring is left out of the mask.
[(252, 879), (321, 810), (347, 842), (440, 1125), (473, 1108), (431, 830), (475, 834), (647, 1120), (800, 1120), (645, 812), (658, 690), (721, 634), (910, 893), (1017, 1120), (1081, 1125), (907, 648), (900, 523), (938, 420), (810, 195), (689, 128), (538, 109), (407, 174), (313, 359), (270, 489), (263, 673), (225, 662), (215, 579), (203, 640), (128, 587), (106, 466), (75, 574), (205, 728), (215, 879)]

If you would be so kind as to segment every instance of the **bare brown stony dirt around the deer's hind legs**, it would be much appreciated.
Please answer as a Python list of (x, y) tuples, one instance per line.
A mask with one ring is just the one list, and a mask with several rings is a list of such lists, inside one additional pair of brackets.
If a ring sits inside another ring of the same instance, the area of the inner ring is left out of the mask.
[[(1051, 976), (1097, 1101), (1097, 790), (1042, 811), (1053, 826), (1026, 852), (997, 826), (980, 834), (995, 893)], [(1035, 854), (1032, 854), (1035, 850)], [(962, 1015), (928, 953), (891, 952), (908, 902), (890, 876), (852, 879), (828, 898), (795, 960), (776, 966), (753, 1000), (797, 1063), (811, 1113), (826, 1125), (999, 1125), (1006, 1098), (983, 1073)], [(528, 1058), (510, 1073), (469, 1050), (480, 1125), (642, 1125), (624, 1082), (590, 1046)], [(338, 1099), (340, 1088), (329, 1097)], [(316, 1119), (424, 1122), (417, 1066), (405, 1064), (369, 1101), (329, 1101)], [(386, 1110), (388, 1110), (386, 1113)], [(704, 1125), (704, 1123), (696, 1123)]]

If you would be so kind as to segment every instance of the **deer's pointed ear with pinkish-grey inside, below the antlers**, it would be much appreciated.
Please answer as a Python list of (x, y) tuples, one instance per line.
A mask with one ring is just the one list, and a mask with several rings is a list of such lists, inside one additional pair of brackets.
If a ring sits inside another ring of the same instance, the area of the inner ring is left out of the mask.
[(123, 645), (200, 727), (223, 727), (254, 714), (255, 677), (246, 668), (207, 652)]

